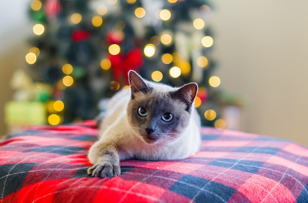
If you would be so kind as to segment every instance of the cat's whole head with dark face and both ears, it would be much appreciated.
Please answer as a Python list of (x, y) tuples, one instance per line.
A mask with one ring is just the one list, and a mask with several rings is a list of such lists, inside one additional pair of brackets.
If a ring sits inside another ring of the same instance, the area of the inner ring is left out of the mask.
[(148, 144), (176, 140), (189, 124), (198, 86), (173, 88), (129, 72), (131, 99), (127, 118), (136, 134)]

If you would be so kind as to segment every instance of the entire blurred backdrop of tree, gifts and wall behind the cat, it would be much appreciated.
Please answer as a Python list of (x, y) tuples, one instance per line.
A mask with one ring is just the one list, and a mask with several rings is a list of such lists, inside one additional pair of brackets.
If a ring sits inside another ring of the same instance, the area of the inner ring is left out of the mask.
[(198, 82), (204, 126), (308, 145), (307, 6), (304, 0), (1, 1), (0, 135), (92, 119), (134, 69), (175, 86)]

